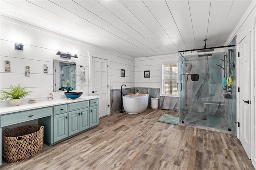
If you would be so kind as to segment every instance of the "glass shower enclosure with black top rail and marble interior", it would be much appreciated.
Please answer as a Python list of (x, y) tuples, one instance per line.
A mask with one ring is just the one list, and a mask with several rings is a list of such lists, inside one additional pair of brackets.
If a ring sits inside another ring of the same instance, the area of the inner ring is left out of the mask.
[(235, 47), (204, 57), (179, 53), (179, 122), (235, 133), (235, 77)]

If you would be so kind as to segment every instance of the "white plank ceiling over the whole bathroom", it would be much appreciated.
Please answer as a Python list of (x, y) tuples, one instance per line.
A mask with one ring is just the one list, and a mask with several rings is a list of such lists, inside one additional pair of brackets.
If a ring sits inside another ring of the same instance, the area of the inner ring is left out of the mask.
[(0, 13), (131, 57), (226, 45), (252, 0), (1, 0)]

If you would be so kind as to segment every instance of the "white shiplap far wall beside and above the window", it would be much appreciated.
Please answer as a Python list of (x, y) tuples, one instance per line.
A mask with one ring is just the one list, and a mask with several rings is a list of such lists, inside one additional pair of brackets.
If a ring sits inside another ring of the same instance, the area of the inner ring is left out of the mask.
[[(162, 63), (177, 62), (178, 53), (135, 58), (135, 87), (161, 87)], [(144, 71), (150, 71), (150, 77), (144, 78)]]

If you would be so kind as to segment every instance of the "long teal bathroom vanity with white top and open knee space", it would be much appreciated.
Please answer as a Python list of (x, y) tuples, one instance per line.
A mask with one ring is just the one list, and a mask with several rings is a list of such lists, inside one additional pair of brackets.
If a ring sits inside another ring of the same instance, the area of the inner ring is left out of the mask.
[(86, 96), (0, 108), (0, 165), (2, 128), (38, 119), (38, 124), (44, 126), (44, 143), (52, 145), (99, 124), (98, 98)]

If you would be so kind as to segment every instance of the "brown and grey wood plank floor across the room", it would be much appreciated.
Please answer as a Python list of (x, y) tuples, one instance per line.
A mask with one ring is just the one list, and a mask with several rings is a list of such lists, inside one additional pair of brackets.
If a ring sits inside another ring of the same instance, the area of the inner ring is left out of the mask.
[(1, 170), (202, 170), (249, 169), (240, 141), (233, 134), (157, 122), (168, 113), (147, 109), (138, 115), (113, 113), (98, 127)]

